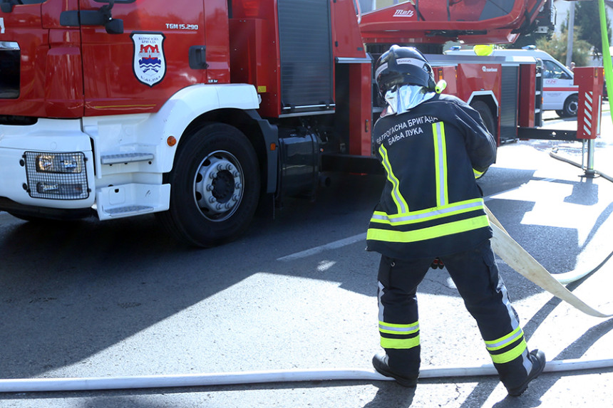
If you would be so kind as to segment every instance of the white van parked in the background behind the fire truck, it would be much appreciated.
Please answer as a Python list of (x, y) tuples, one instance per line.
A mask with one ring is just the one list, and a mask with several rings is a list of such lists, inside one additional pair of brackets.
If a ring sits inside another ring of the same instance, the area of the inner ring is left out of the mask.
[[(445, 51), (448, 55), (474, 56), (473, 50)], [(492, 56), (525, 56), (542, 61), (542, 110), (555, 110), (560, 116), (577, 116), (579, 107), (579, 87), (573, 85), (572, 70), (545, 51), (530, 50), (494, 50)]]

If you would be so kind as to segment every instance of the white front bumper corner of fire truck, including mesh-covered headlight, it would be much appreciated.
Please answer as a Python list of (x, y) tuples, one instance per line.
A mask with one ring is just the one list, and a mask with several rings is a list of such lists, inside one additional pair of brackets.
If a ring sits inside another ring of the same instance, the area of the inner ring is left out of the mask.
[(24, 206), (86, 209), (94, 203), (91, 140), (81, 120), (0, 125), (0, 197)]

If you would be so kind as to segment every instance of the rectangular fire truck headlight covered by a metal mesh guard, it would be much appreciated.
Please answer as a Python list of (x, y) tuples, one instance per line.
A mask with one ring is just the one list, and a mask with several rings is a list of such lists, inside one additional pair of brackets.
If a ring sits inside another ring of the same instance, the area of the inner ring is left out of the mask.
[(39, 199), (86, 199), (86, 157), (82, 152), (25, 152), (27, 191)]

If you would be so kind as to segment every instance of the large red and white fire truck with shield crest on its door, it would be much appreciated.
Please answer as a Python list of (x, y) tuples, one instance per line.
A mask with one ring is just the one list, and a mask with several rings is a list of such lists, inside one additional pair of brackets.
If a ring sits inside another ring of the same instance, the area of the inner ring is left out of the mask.
[[(391, 44), (508, 43), (540, 16), (549, 25), (548, 7), (0, 0), (0, 209), (155, 213), (187, 244), (234, 239), (264, 197), (313, 197), (324, 172), (381, 172), (372, 65)], [(499, 142), (538, 125), (534, 61), (428, 58)]]

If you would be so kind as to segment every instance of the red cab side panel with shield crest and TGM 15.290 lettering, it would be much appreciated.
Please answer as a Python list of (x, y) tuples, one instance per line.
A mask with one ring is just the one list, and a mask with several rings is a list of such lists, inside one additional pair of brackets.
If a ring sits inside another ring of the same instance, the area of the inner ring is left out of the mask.
[[(80, 6), (91, 11), (101, 4), (80, 0)], [(153, 113), (189, 85), (229, 83), (227, 34), (224, 40), (213, 33), (227, 33), (226, 8), (220, 0), (176, 0), (168, 13), (166, 1), (135, 0), (113, 6), (121, 34), (82, 26), (86, 116)], [(200, 54), (200, 65), (190, 54)], [(101, 61), (103, 69), (96, 69)]]

